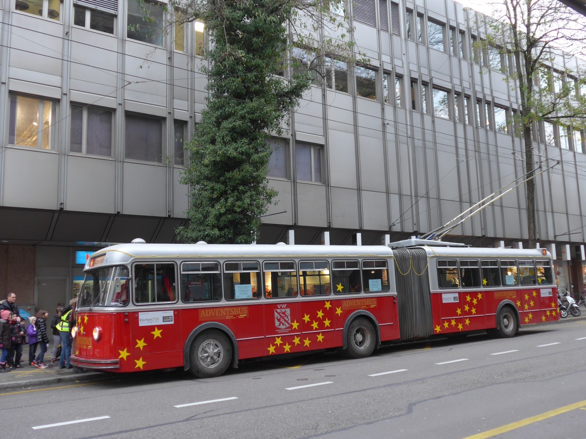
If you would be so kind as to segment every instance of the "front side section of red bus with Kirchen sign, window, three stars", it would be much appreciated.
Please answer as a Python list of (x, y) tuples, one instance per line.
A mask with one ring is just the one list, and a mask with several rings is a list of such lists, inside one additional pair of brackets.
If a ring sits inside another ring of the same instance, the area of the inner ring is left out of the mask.
[(183, 364), (176, 279), (176, 267), (171, 262), (133, 266), (134, 304), (137, 306), (131, 320), (133, 369), (161, 369)]

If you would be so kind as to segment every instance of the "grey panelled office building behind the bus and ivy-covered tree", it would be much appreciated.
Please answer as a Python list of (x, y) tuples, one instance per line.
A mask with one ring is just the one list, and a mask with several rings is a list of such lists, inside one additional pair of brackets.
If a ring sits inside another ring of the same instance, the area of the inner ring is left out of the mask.
[[(486, 27), (450, 0), (354, 0), (370, 65), (332, 62), (273, 138), (279, 196), (260, 242), (380, 243), (455, 217), (523, 174), (509, 116), (510, 60), (471, 44)], [(79, 290), (84, 256), (105, 242), (173, 242), (185, 222), (183, 139), (205, 106), (203, 23), (165, 33), (135, 0), (6, 0), (0, 10), (0, 294), (52, 308)], [(139, 24), (138, 28), (136, 26)], [(130, 26), (130, 27), (129, 27)], [(575, 69), (558, 57), (554, 73)], [(544, 125), (534, 148), (538, 239), (560, 282), (582, 283), (586, 155), (580, 131)], [(582, 203), (584, 200), (584, 203)], [(584, 204), (584, 206), (582, 206)], [(527, 238), (524, 188), (453, 231), (480, 246)], [(571, 261), (570, 261), (571, 260)]]

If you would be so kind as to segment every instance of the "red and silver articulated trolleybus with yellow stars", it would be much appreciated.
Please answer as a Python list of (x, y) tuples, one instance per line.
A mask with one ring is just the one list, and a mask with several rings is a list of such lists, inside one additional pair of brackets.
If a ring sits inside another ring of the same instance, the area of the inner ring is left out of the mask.
[(88, 259), (71, 362), (206, 378), (250, 358), (558, 320), (544, 249), (409, 239), (389, 246), (147, 244)]

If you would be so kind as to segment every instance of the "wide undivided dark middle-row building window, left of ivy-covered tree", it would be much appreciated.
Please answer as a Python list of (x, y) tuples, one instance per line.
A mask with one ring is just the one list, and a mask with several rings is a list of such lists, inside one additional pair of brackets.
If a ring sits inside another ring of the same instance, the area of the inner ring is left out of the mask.
[(127, 114), (124, 157), (144, 162), (162, 162), (163, 120)]

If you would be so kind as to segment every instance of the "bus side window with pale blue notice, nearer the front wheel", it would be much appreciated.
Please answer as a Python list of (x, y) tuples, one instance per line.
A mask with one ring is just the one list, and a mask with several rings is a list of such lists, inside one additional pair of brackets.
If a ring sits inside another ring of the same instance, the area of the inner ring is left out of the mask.
[(224, 263), (226, 300), (258, 299), (260, 285), (260, 264), (258, 262)]

